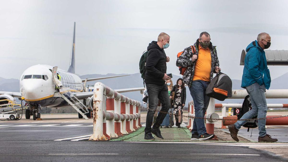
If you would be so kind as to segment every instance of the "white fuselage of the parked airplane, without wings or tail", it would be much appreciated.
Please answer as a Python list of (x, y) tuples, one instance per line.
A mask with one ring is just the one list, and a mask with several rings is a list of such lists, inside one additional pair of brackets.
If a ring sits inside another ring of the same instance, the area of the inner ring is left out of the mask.
[[(53, 97), (56, 92), (52, 79), (53, 66), (34, 65), (26, 69), (20, 78), (20, 93), (29, 104), (39, 104), (42, 107), (61, 108), (69, 106), (62, 97)], [(82, 92), (83, 83), (79, 76), (58, 69), (63, 87), (60, 94), (70, 92)]]

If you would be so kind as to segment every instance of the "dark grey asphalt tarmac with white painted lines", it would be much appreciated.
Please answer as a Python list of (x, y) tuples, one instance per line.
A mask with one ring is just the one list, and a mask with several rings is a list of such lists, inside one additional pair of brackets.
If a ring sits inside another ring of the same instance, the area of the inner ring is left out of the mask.
[(92, 134), (91, 123), (32, 122), (37, 120), (31, 120), (31, 123), (1, 123), (0, 161), (286, 160), (276, 154), (235, 143), (161, 142), (158, 139), (155, 142), (88, 141)]

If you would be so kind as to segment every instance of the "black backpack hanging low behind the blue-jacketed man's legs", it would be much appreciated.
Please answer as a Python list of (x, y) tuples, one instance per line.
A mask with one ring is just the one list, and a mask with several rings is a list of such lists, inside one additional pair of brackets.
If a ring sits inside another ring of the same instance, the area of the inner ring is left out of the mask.
[[(246, 112), (250, 111), (252, 109), (251, 102), (250, 102), (250, 96), (247, 95), (243, 101), (242, 109), (240, 110), (240, 113), (238, 115), (238, 119), (240, 119)], [(252, 119), (257, 118), (257, 116), (254, 116)], [(257, 120), (248, 120), (247, 123), (243, 125), (243, 127), (248, 128), (247, 131), (249, 131), (249, 128), (256, 128), (258, 127), (258, 121)]]

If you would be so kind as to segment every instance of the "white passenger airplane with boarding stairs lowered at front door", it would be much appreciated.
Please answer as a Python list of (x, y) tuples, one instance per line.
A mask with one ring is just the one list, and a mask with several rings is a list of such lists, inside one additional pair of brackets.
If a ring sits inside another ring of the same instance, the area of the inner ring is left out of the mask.
[[(91, 118), (93, 91), (87, 92), (86, 82), (128, 75), (80, 79), (75, 74), (75, 26), (76, 23), (74, 22), (73, 49), (68, 71), (50, 65), (38, 64), (31, 66), (20, 77), (20, 92), (0, 91), (0, 100), (10, 99), (15, 101), (14, 97), (24, 100), (29, 104), (29, 109), (25, 112), (26, 119), (30, 119), (31, 116), (33, 116), (33, 120), (41, 118), (41, 113), (39, 112), (41, 107), (63, 108), (68, 106), (72, 106), (77, 110), (79, 118)], [(58, 80), (57, 73), (60, 75), (61, 81)], [(115, 91), (118, 93), (143, 92), (144, 89), (128, 88)], [(82, 99), (83, 103), (80, 101)], [(88, 105), (87, 100), (89, 100)]]

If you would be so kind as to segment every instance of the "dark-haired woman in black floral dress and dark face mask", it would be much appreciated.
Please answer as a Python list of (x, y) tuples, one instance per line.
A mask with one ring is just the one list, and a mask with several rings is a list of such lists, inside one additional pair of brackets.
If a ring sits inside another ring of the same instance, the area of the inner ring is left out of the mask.
[(173, 89), (170, 92), (170, 99), (172, 98), (172, 93), (175, 92), (174, 101), (172, 105), (174, 107), (176, 126), (178, 126), (178, 128), (181, 128), (180, 125), (182, 123), (182, 116), (178, 115), (183, 114), (182, 110), (183, 107), (185, 106), (186, 101), (186, 88), (182, 78), (179, 78), (176, 83), (177, 84), (173, 86)]

